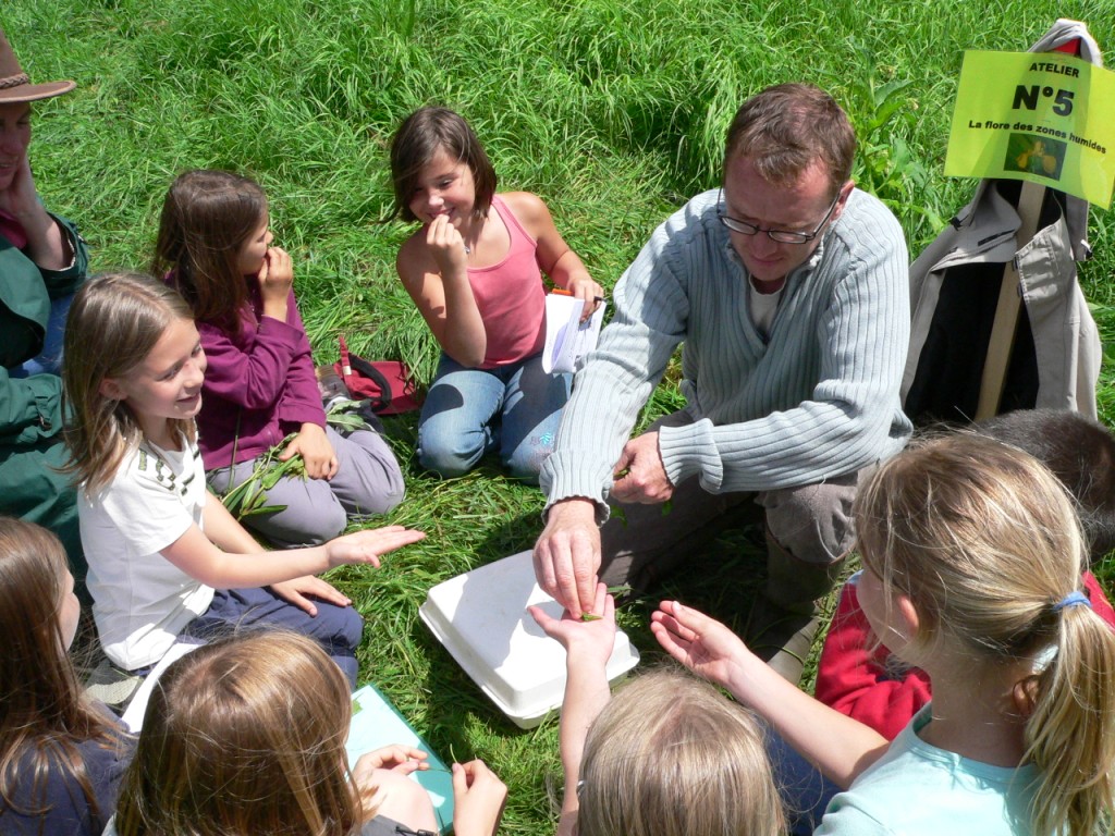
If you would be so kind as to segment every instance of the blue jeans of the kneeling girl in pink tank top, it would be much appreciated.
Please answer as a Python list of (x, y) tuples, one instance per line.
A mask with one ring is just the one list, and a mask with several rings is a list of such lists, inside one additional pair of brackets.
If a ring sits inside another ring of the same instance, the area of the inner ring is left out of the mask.
[(418, 461), (450, 478), (498, 450), (512, 476), (536, 484), (571, 382), (544, 372), (541, 353), (495, 369), (468, 369), (443, 353), (418, 419)]

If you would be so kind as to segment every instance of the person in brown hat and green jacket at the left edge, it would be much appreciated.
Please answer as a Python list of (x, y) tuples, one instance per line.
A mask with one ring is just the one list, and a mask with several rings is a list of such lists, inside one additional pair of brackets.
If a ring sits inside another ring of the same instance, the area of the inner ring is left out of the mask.
[(31, 103), (75, 87), (32, 84), (0, 31), (0, 511), (58, 534), (84, 579), (74, 489), (56, 468), (61, 337), (88, 255), (74, 224), (42, 206), (27, 154)]

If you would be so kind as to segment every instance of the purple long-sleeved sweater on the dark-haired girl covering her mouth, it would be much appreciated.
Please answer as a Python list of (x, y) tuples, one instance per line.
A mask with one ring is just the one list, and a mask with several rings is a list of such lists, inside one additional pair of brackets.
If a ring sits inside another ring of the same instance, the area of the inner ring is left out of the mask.
[(245, 311), (235, 337), (211, 322), (197, 323), (209, 358), (197, 415), (206, 470), (255, 458), (302, 424), (326, 425), (294, 291), (287, 301), (285, 322), (262, 315), (254, 281), (248, 299), (251, 313)]

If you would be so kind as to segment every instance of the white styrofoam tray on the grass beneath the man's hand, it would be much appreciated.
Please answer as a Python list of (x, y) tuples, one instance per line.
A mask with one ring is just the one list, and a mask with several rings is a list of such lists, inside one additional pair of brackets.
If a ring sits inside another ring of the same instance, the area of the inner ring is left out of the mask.
[[(561, 605), (534, 581), (531, 552), (521, 552), (439, 583), (418, 609), (465, 673), (521, 729), (541, 723), (565, 694), (565, 649), (531, 618), (532, 604), (561, 618)], [(608, 680), (638, 663), (639, 652), (618, 630)]]

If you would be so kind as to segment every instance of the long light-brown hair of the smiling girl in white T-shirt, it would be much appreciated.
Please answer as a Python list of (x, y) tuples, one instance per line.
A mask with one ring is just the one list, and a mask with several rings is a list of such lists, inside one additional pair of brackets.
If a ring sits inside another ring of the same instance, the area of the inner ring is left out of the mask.
[[(143, 441), (136, 416), (124, 401), (100, 392), (106, 378), (129, 375), (175, 320), (192, 320), (190, 307), (173, 289), (144, 273), (106, 273), (74, 298), (66, 323), (64, 395), (71, 411), (66, 427), (66, 467), (86, 494), (96, 494)], [(171, 429), (194, 438), (192, 420)]]

